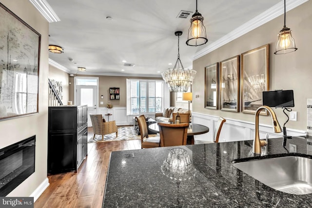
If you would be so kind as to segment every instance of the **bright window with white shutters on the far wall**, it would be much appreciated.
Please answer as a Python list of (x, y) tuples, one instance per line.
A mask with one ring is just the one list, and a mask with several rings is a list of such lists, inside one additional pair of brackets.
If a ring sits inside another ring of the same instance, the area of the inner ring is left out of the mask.
[(162, 112), (169, 105), (169, 88), (163, 80), (127, 79), (127, 115)]

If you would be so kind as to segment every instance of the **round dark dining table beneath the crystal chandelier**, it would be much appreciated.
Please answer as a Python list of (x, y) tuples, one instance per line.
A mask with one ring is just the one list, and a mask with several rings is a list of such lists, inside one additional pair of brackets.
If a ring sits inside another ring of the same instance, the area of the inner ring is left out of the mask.
[[(154, 132), (159, 132), (157, 123), (150, 124), (148, 126), (149, 130)], [(187, 144), (194, 145), (194, 135), (203, 134), (209, 132), (209, 127), (206, 127), (201, 124), (190, 123), (187, 129)]]

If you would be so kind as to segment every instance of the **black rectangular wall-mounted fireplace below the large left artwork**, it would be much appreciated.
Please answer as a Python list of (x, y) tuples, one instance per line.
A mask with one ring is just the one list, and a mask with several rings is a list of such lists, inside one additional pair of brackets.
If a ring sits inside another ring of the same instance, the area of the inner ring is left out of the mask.
[(0, 196), (6, 196), (35, 172), (36, 135), (0, 150)]

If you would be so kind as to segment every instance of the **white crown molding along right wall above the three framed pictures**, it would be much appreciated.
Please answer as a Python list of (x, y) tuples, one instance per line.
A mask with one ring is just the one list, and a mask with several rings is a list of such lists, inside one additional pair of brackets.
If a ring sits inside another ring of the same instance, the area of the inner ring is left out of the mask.
[[(307, 2), (308, 0), (286, 0), (286, 12), (292, 10), (293, 8)], [(261, 13), (260, 15), (254, 17), (253, 19), (249, 20), (245, 24), (242, 24), (232, 32), (228, 33), (227, 35), (219, 38), (215, 42), (211, 43), (207, 47), (203, 48), (202, 50), (198, 51), (193, 60), (200, 58), (215, 49), (231, 42), (232, 40), (239, 38), (242, 35), (254, 30), (255, 28), (271, 21), (272, 19), (277, 18), (278, 16), (284, 14), (284, 1), (280, 1), (279, 3), (275, 4), (270, 9), (266, 10), (265, 12)], [(282, 25), (281, 25), (282, 26)]]

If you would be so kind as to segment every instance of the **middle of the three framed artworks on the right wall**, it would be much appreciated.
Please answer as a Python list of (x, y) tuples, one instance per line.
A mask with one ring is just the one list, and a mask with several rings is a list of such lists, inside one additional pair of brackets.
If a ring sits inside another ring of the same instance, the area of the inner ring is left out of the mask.
[(239, 111), (239, 56), (220, 62), (221, 111)]

